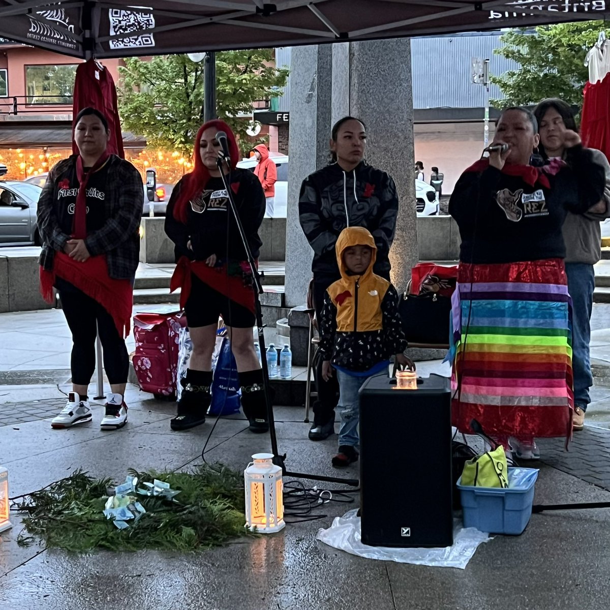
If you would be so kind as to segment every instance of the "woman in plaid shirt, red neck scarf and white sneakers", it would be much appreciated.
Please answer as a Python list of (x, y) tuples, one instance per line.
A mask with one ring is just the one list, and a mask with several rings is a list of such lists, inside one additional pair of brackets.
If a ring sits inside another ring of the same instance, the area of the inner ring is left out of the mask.
[(81, 110), (74, 121), (79, 154), (51, 169), (38, 200), (41, 292), (52, 302), (57, 289), (73, 340), (72, 392), (52, 428), (91, 421), (87, 388), (98, 332), (111, 390), (100, 426), (117, 429), (127, 422), (124, 337), (140, 254), (143, 189), (138, 170), (106, 151), (109, 135), (101, 112)]

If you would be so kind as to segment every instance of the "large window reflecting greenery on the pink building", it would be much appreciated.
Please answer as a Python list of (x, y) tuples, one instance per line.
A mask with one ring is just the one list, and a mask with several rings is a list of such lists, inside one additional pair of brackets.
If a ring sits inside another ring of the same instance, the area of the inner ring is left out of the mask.
[(72, 104), (76, 63), (26, 66), (27, 104)]

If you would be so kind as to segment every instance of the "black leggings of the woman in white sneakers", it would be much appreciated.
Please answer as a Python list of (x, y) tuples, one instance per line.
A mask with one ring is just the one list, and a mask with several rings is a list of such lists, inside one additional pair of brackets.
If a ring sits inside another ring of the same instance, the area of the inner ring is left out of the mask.
[(73, 384), (88, 386), (91, 381), (95, 371), (95, 337), (98, 329), (108, 381), (113, 386), (126, 383), (129, 354), (112, 316), (97, 301), (72, 286), (66, 289), (59, 287), (59, 299), (72, 332), (70, 368)]

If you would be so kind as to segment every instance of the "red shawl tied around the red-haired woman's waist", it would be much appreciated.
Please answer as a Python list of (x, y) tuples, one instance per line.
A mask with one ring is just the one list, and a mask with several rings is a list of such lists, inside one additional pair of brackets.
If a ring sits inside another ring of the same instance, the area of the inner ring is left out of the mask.
[[(241, 263), (242, 270), (247, 263)], [(249, 265), (248, 265), (249, 271)], [(248, 273), (245, 271), (245, 273)], [(170, 292), (180, 288), (180, 308), (184, 309), (191, 291), (191, 272), (213, 290), (239, 303), (254, 314), (254, 289), (243, 282), (243, 275), (229, 275), (227, 265), (209, 267), (203, 260), (188, 260), (182, 256), (170, 281)], [(187, 320), (188, 321), (188, 320)]]

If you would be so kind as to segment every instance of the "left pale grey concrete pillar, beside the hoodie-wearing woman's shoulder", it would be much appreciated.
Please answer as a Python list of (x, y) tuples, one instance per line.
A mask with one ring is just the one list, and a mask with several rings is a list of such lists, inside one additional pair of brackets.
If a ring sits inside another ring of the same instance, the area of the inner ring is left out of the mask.
[(332, 46), (292, 49), (290, 66), (290, 167), (286, 222), (285, 304), (305, 303), (312, 249), (299, 223), (301, 182), (328, 159), (331, 132)]

